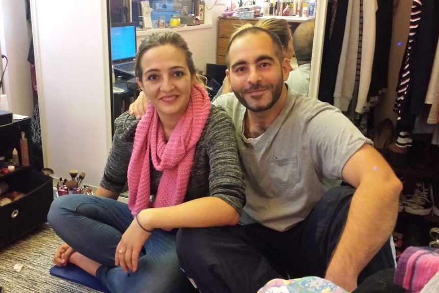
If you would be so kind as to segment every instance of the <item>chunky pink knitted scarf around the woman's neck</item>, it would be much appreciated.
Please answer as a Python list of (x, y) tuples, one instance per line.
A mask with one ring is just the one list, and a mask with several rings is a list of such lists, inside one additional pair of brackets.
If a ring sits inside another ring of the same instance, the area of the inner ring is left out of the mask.
[(134, 147), (128, 166), (128, 206), (133, 216), (150, 204), (150, 163), (163, 171), (152, 207), (173, 206), (183, 202), (195, 148), (210, 113), (207, 91), (193, 86), (186, 112), (175, 126), (168, 143), (164, 140), (157, 110), (149, 103), (137, 125)]

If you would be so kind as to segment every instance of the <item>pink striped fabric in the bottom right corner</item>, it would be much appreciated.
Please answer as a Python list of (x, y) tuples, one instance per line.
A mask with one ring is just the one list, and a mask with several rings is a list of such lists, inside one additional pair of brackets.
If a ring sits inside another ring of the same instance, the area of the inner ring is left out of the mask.
[(398, 260), (395, 284), (419, 292), (439, 272), (439, 249), (410, 246)]

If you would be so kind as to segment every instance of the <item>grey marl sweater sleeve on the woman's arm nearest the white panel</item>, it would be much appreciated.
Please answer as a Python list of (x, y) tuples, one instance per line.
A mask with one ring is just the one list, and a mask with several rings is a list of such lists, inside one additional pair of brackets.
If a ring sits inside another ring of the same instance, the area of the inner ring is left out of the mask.
[(135, 128), (139, 120), (128, 112), (116, 118), (115, 134), (109, 152), (100, 186), (104, 189), (120, 193), (127, 182), (129, 160), (134, 142)]

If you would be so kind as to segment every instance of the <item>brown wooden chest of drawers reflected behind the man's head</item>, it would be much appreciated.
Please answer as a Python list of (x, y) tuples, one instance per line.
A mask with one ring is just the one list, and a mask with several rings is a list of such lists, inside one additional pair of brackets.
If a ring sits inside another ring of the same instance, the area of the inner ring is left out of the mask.
[[(240, 28), (245, 23), (255, 24), (260, 19), (268, 17), (258, 17), (253, 19), (239, 19), (237, 17), (218, 17), (218, 40), (216, 47), (216, 63), (226, 65), (227, 46), (230, 42), (230, 37), (236, 29)], [(279, 18), (279, 17), (278, 17)], [(304, 17), (285, 17), (290, 23), (291, 33), (297, 28), (300, 22), (306, 20)]]

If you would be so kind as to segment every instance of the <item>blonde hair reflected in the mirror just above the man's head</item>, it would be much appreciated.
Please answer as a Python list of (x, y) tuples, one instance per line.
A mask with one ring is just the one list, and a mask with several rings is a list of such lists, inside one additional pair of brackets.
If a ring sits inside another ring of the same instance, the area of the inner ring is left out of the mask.
[(279, 18), (269, 18), (269, 19), (261, 19), (256, 22), (254, 25), (251, 23), (245, 23), (241, 25), (239, 28), (233, 32), (230, 39), (233, 39), (234, 36), (242, 30), (251, 28), (255, 26), (256, 28), (261, 28), (267, 30), (279, 37), (279, 40), (282, 43), (282, 49), (285, 51), (288, 48), (288, 44), (291, 42), (291, 29), (288, 21), (285, 19)]

